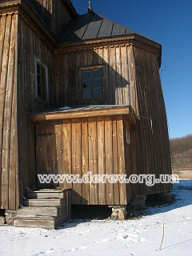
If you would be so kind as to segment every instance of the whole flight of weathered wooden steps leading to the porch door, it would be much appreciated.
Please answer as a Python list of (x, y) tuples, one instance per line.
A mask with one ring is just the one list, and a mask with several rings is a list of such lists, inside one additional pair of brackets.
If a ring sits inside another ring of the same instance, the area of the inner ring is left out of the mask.
[(70, 219), (70, 190), (26, 191), (14, 226), (56, 229)]

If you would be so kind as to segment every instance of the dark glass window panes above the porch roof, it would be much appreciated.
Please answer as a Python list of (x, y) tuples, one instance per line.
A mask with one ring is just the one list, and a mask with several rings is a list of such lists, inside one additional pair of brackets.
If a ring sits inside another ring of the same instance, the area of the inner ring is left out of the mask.
[(102, 70), (83, 71), (83, 98), (102, 98)]

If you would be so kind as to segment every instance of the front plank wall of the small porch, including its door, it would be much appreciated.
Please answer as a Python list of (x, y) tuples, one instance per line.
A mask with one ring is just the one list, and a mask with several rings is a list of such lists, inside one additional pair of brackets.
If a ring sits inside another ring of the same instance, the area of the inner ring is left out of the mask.
[[(122, 116), (37, 125), (38, 174), (79, 174), (79, 178), (88, 171), (92, 175), (126, 174), (123, 126)], [(50, 158), (54, 160), (48, 161)], [(126, 162), (130, 170), (129, 160)], [(119, 182), (68, 183), (67, 186), (73, 189), (72, 204), (126, 205), (133, 195), (126, 194), (126, 184)]]

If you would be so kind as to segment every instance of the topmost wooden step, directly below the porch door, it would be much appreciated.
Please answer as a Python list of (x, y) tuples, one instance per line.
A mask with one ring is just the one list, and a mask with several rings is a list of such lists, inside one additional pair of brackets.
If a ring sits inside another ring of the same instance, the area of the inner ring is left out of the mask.
[(52, 198), (65, 198), (66, 194), (62, 190), (34, 190), (26, 191), (26, 198), (28, 199), (52, 199)]

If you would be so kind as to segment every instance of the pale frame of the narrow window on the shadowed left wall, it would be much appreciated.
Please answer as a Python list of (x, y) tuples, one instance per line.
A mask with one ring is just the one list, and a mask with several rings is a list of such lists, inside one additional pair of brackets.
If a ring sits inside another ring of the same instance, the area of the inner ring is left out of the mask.
[[(38, 95), (38, 65), (45, 70), (46, 98), (42, 98), (40, 95)], [(46, 106), (49, 106), (50, 90), (49, 90), (49, 83), (48, 83), (48, 68), (39, 58), (37, 58), (37, 56), (34, 56), (34, 84), (35, 84), (35, 99), (38, 100), (38, 102), (41, 102)]]

